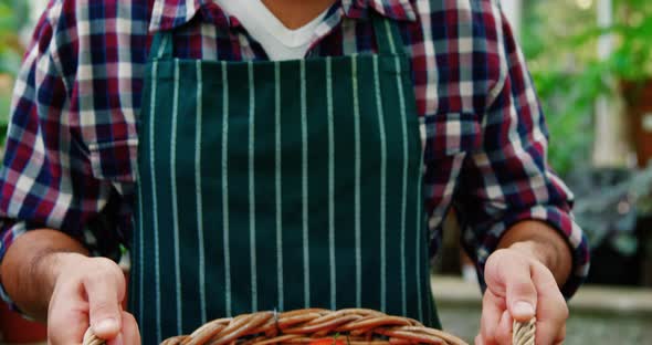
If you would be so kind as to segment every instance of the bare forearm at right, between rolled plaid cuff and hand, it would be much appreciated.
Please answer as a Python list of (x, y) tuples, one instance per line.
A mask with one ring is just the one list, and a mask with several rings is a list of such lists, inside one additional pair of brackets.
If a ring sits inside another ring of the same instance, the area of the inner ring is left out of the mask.
[(502, 237), (498, 248), (512, 248), (534, 255), (553, 272), (559, 286), (564, 285), (570, 275), (570, 248), (561, 234), (545, 222), (517, 222)]

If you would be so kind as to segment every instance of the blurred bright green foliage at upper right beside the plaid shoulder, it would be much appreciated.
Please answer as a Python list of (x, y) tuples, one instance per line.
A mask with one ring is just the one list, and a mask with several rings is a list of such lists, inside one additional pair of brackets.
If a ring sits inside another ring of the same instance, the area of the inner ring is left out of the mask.
[[(549, 161), (562, 176), (590, 166), (596, 100), (618, 96), (622, 81), (652, 77), (652, 1), (613, 0), (609, 28), (598, 27), (596, 2), (524, 1), (520, 42), (548, 119)], [(603, 34), (616, 46), (599, 60)]]

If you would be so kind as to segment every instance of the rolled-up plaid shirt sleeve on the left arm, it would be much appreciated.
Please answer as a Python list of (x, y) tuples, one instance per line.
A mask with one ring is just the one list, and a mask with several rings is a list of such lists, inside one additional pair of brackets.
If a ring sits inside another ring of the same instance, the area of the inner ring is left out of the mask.
[[(118, 229), (108, 224), (118, 218), (109, 200), (119, 181), (96, 178), (92, 153), (82, 145), (88, 133), (105, 128), (80, 119), (85, 95), (77, 85), (106, 80), (84, 81), (85, 65), (75, 54), (84, 29), (71, 27), (72, 15), (70, 2), (64, 8), (64, 1), (50, 1), (15, 82), (0, 169), (0, 258), (21, 234), (41, 228), (62, 230), (95, 254), (119, 254)], [(101, 119), (111, 114), (101, 105), (93, 111), (98, 116), (84, 115)]]

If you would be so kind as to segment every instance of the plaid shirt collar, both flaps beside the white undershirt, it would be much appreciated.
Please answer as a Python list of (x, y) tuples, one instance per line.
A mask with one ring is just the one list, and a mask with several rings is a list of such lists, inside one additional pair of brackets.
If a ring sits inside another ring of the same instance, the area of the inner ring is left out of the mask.
[[(233, 0), (242, 1), (242, 0)], [(399, 21), (414, 21), (417, 15), (412, 0), (340, 0), (344, 15), (353, 19), (366, 18), (369, 9), (383, 17)], [(181, 27), (201, 12), (202, 20), (220, 28), (238, 27), (235, 18), (228, 17), (211, 0), (155, 0), (149, 31), (171, 30)]]

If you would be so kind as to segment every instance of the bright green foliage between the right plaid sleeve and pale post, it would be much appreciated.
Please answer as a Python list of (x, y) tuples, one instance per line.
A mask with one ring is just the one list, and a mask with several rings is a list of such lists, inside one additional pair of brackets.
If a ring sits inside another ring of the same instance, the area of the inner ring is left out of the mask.
[[(595, 13), (567, 0), (524, 2), (520, 42), (550, 132), (549, 163), (561, 176), (590, 165), (592, 111), (599, 71), (586, 70), (595, 43), (572, 40), (595, 21)], [(591, 72), (591, 73), (589, 73)]]

